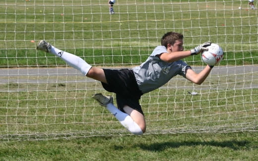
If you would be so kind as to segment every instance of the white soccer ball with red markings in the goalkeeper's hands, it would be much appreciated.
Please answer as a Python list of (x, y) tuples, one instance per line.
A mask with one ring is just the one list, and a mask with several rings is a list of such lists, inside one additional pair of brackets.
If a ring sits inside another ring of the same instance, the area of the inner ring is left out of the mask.
[(211, 45), (206, 47), (208, 50), (204, 50), (201, 53), (201, 60), (208, 65), (216, 65), (223, 59), (223, 50), (216, 44), (211, 43)]

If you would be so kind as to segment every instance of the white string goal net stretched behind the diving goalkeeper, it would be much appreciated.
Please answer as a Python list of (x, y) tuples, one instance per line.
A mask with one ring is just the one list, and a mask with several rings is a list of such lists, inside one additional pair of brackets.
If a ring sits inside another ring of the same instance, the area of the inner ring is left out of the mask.
[[(258, 130), (258, 9), (247, 0), (117, 0), (115, 14), (107, 0), (1, 0), (0, 9), (1, 141), (130, 135), (91, 98), (115, 94), (37, 42), (132, 68), (170, 31), (184, 35), (185, 50), (218, 43), (224, 60), (201, 85), (179, 76), (144, 94), (145, 134)], [(199, 55), (184, 61), (205, 67)]]

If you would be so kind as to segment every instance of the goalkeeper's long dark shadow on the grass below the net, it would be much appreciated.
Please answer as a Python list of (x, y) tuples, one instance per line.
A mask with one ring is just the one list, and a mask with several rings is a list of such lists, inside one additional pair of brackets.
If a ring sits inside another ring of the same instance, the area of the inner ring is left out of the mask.
[[(164, 142), (164, 143), (153, 143), (153, 144), (139, 144), (138, 147), (140, 147), (143, 150), (148, 151), (163, 151), (167, 148), (179, 148), (181, 146), (215, 146), (215, 147), (222, 147), (222, 148), (231, 148), (234, 150), (239, 150), (240, 147), (249, 147), (248, 144), (250, 142), (248, 141), (223, 141), (223, 142), (217, 142), (217, 141), (208, 141), (208, 142), (200, 142), (200, 141), (185, 141), (185, 142)], [(248, 148), (247, 148), (248, 149)]]

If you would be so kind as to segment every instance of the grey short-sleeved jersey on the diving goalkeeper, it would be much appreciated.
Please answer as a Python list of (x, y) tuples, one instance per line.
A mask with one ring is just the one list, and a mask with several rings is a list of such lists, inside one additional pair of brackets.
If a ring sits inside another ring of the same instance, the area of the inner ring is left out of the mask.
[[(157, 46), (144, 63), (133, 68), (137, 84), (142, 93), (159, 88), (176, 75), (186, 77), (186, 67), (188, 66), (186, 62), (178, 60), (167, 63), (157, 56), (166, 52), (165, 46)], [(190, 66), (188, 68), (191, 69)]]

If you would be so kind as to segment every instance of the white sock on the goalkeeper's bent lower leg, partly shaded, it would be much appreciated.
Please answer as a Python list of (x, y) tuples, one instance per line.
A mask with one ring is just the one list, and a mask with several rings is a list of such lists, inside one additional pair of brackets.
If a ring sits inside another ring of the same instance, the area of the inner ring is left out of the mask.
[(126, 114), (123, 113), (122, 111), (120, 111), (118, 108), (116, 108), (112, 103), (109, 103), (107, 105), (107, 109), (109, 112), (111, 112), (118, 121), (120, 121), (120, 123), (126, 127), (131, 133), (133, 133), (134, 135), (142, 135), (143, 132), (140, 128), (140, 126), (134, 122), (131, 117)]

